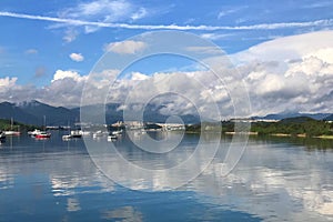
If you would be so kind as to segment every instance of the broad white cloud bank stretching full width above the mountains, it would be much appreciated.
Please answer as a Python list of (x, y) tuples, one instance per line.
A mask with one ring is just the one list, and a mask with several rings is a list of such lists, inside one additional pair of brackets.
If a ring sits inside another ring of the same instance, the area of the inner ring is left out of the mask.
[[(238, 71), (246, 84), (252, 114), (285, 110), (332, 112), (332, 39), (333, 31), (301, 34), (276, 39), (233, 54), (233, 60), (242, 62), (238, 63)], [(112, 46), (111, 49), (117, 53), (134, 53), (144, 46), (137, 43), (128, 41)], [(221, 59), (214, 59), (221, 64)], [(165, 104), (163, 112), (193, 113), (196, 109), (213, 118), (210, 105), (218, 104), (225, 115), (233, 113), (231, 95), (224, 85), (233, 87), (240, 81), (234, 71), (222, 70), (223, 82), (208, 70), (160, 72), (152, 75), (133, 71), (131, 75), (110, 82), (119, 74), (118, 70), (104, 70), (89, 78), (72, 70), (57, 70), (51, 83), (43, 89), (20, 85), (17, 78), (2, 78), (0, 98), (23, 100), (30, 97), (49, 103), (79, 105), (88, 80), (85, 90), (91, 103), (104, 102), (103, 93), (109, 93), (110, 102), (123, 104), (129, 97), (135, 102), (144, 102), (148, 98), (176, 92), (185, 100), (163, 97), (159, 100)]]

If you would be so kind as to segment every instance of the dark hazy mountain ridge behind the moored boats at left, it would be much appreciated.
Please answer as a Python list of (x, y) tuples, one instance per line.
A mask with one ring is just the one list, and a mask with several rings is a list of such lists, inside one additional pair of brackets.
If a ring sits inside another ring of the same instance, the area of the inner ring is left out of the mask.
[[(120, 108), (121, 104), (109, 103), (107, 105), (100, 104), (101, 109), (105, 108), (105, 120), (107, 123), (114, 123), (123, 120), (123, 111)], [(133, 105), (134, 107), (134, 105)], [(165, 122), (169, 115), (161, 114), (160, 110), (163, 107), (155, 107), (148, 104), (143, 113), (143, 120), (147, 122)], [(2, 102), (0, 103), (0, 119), (13, 118), (18, 122), (26, 124), (43, 125), (73, 125), (74, 122), (80, 121), (80, 109), (73, 108), (68, 109), (63, 107), (52, 107), (37, 100), (20, 103)], [(83, 107), (92, 119), (104, 119), (99, 118), (101, 113), (98, 113), (100, 109), (97, 105)], [(196, 115), (185, 114), (181, 115), (185, 123), (198, 123), (200, 118)]]

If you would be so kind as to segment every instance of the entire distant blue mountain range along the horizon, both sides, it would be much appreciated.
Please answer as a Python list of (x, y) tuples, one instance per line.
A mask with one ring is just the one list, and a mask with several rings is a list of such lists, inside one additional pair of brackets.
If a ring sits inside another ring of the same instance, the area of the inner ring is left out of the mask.
[[(120, 104), (109, 103), (105, 105), (107, 123), (113, 123), (123, 120), (123, 111), (119, 109)], [(160, 110), (163, 105), (155, 107), (149, 104), (143, 113), (143, 120), (150, 122), (165, 122), (168, 115), (161, 114)], [(85, 107), (89, 109), (91, 115), (98, 115), (94, 110), (95, 107)], [(282, 112), (275, 114), (268, 114), (265, 117), (252, 117), (253, 120), (282, 120), (286, 118), (309, 117), (315, 120), (333, 121), (332, 113), (299, 113), (299, 112)], [(14, 121), (34, 124), (34, 125), (73, 125), (80, 121), (80, 108), (64, 108), (52, 107), (37, 100), (20, 103), (1, 102), (0, 103), (0, 119), (13, 119)], [(181, 115), (184, 123), (198, 123), (200, 118), (198, 115)]]

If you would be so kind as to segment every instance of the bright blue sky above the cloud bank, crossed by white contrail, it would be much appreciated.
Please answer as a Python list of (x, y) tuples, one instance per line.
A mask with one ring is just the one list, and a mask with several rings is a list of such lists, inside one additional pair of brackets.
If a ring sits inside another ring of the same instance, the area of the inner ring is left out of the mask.
[(105, 46), (154, 30), (188, 31), (236, 54), (270, 40), (332, 30), (332, 10), (330, 0), (1, 0), (0, 79), (17, 78), (16, 85), (38, 90), (54, 81), (57, 70), (84, 77)]

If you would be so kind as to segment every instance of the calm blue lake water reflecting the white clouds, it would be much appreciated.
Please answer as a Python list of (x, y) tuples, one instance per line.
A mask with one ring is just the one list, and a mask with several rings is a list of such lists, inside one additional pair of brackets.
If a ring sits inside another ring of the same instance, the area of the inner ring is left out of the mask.
[[(206, 135), (200, 157), (214, 141)], [(199, 135), (186, 134), (169, 154), (148, 154), (127, 138), (114, 147), (140, 168), (163, 169), (191, 157), (198, 142)], [(105, 176), (82, 139), (62, 141), (57, 131), (50, 140), (8, 138), (0, 145), (0, 221), (333, 221), (333, 141), (250, 138), (236, 168), (221, 176), (230, 142), (223, 138), (199, 176), (170, 190), (163, 184), (186, 178), (195, 167), (137, 180), (137, 172), (119, 168), (111, 155)]]

